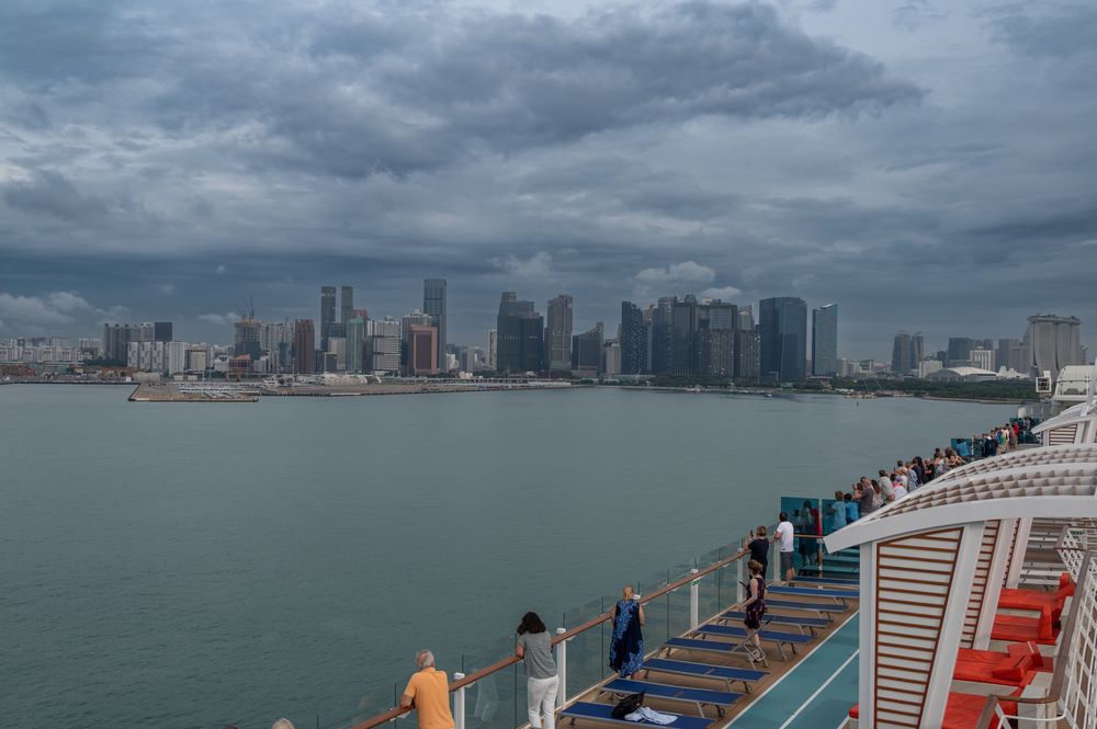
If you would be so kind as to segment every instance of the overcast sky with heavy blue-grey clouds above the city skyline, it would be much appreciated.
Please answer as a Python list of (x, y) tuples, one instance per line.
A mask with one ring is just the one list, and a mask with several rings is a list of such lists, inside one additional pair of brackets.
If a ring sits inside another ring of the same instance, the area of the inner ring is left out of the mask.
[(621, 299), (836, 301), (897, 329), (1097, 344), (1097, 3), (0, 2), (0, 337), (231, 341), (444, 276), (576, 330)]

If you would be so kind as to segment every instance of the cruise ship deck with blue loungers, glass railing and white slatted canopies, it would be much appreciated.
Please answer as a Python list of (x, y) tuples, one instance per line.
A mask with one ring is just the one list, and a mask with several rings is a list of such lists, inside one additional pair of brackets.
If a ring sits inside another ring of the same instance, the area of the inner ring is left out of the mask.
[[(1038, 447), (955, 468), (823, 538), (800, 535), (798, 578), (768, 583), (764, 660), (734, 610), (740, 550), (644, 594), (647, 653), (630, 680), (606, 665), (603, 602), (555, 637), (557, 725), (633, 726), (612, 708), (644, 692), (681, 729), (1097, 728), (1092, 392), (1037, 432)], [(457, 729), (528, 726), (516, 662), (454, 676)], [(504, 671), (513, 711), (487, 711), (483, 685)]]

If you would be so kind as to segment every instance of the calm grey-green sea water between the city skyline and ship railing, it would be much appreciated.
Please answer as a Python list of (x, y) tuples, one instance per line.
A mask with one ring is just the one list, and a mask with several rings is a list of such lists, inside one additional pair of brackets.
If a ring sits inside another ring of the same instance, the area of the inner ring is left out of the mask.
[[(0, 387), (0, 726), (298, 727), (1008, 406)], [(496, 658), (501, 656), (496, 656)]]

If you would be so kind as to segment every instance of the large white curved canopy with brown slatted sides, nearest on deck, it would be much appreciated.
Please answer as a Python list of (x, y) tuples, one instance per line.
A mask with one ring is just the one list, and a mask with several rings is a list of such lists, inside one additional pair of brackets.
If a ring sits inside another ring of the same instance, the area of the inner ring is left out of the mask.
[(1058, 561), (1079, 519), (1097, 519), (1097, 444), (969, 464), (826, 536), (861, 548), (861, 726), (940, 727), (959, 649), (986, 647), (1010, 573)]

